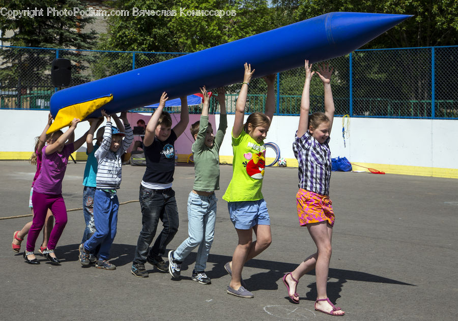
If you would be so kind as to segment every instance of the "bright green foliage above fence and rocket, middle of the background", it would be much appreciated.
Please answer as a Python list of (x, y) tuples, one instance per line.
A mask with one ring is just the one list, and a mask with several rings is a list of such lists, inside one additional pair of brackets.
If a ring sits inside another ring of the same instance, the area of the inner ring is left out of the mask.
[[(175, 10), (175, 16), (110, 16), (108, 37), (101, 49), (194, 52), (271, 29), (266, 0), (114, 0), (113, 8)], [(234, 10), (234, 16), (193, 16), (188, 10)], [(184, 13), (184, 14), (182, 14)]]

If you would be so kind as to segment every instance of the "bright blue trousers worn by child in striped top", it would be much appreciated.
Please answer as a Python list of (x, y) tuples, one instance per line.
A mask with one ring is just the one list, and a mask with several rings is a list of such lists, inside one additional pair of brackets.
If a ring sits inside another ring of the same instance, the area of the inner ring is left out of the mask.
[(100, 245), (99, 260), (108, 260), (111, 244), (115, 240), (118, 225), (119, 201), (116, 194), (96, 189), (94, 195), (94, 222), (96, 230), (84, 249), (94, 253)]

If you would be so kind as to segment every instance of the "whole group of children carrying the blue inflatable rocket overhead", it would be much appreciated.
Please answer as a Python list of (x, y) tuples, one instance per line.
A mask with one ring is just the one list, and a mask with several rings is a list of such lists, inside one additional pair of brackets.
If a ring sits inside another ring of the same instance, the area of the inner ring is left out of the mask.
[[(252, 298), (253, 294), (247, 290), (242, 279), (243, 266), (271, 243), (270, 217), (262, 195), (262, 184), (266, 149), (264, 139), (275, 109), (275, 78), (274, 75), (264, 77), (267, 83), (265, 113), (252, 113), (243, 123), (248, 86), (254, 73), (254, 69), (251, 70), (248, 63), (245, 63), (244, 68), (232, 129), (233, 177), (223, 195), (238, 235), (238, 244), (232, 261), (227, 262), (224, 268), (231, 275), (227, 293)], [(309, 66), (305, 60), (306, 79), (298, 131), (293, 143), (294, 154), (299, 163), (299, 222), (301, 226), (307, 227), (317, 245), (317, 252), (308, 256), (294, 271), (285, 274), (283, 282), (291, 302), (299, 303), (296, 290), (298, 280), (308, 271), (315, 269), (318, 292), (315, 309), (331, 315), (344, 315), (345, 312), (334, 306), (326, 294), (334, 224), (332, 203), (329, 199), (331, 156), (328, 145), (334, 103), (330, 86), (332, 69), (329, 69), (328, 65), (323, 65), (319, 69), (320, 72), (316, 73), (324, 85), (325, 113), (308, 114), (310, 80), (315, 72), (311, 71), (311, 65)], [(214, 238), (217, 201), (215, 190), (219, 189), (219, 148), (227, 128), (227, 119), (224, 89), (218, 88), (220, 123), (214, 135), (208, 120), (210, 97), (205, 86), (201, 88), (201, 92), (204, 98), (201, 119), (191, 126), (191, 134), (195, 140), (192, 145), (195, 179), (187, 204), (189, 236), (177, 249), (167, 253), (168, 262), (164, 262), (162, 258), (166, 255), (166, 246), (174, 238), (179, 225), (175, 191), (172, 188), (175, 171), (174, 142), (184, 132), (189, 121), (186, 97), (181, 98), (180, 121), (173, 129), (170, 115), (163, 111), (168, 99), (166, 92), (162, 93), (159, 107), (146, 125), (145, 137), (140, 146), (144, 150), (147, 163), (139, 191), (142, 228), (131, 267), (131, 273), (137, 277), (148, 277), (145, 269), (145, 263), (148, 262), (160, 271), (168, 271), (173, 278), (180, 278), (182, 262), (198, 246), (192, 280), (202, 284), (211, 283), (205, 270)], [(44, 146), (45, 133), (52, 121), (52, 118), (49, 118), (35, 152), (37, 156), (41, 155), (41, 169), (37, 163), (38, 177), (31, 192), (34, 218), (24, 252), (27, 263), (40, 263), (34, 254), (35, 241), (44, 225), (48, 210), (55, 218), (55, 225), (50, 232), (49, 241), (42, 244), (46, 246), (40, 251), (51, 263), (59, 263), (53, 250), (67, 222), (65, 203), (61, 194), (62, 179), (68, 156), (87, 141), (88, 161), (83, 181), (83, 212), (86, 227), (79, 246), (79, 260), (82, 265), (95, 263), (97, 268), (116, 269), (108, 261), (109, 249), (117, 229), (119, 202), (116, 191), (121, 183), (121, 156), (131, 145), (133, 134), (126, 113), (122, 113), (118, 118), (102, 110), (102, 115), (106, 118), (106, 125), (97, 132), (95, 145), (93, 137), (101, 123), (100, 119), (90, 119), (90, 130), (77, 141), (66, 143), (79, 122), (79, 119), (74, 119), (69, 130), (65, 133), (53, 133), (49, 144)], [(111, 118), (118, 127), (112, 126)], [(150, 248), (159, 220), (163, 224), (163, 229)], [(256, 236), (255, 241), (252, 240), (253, 232)], [(25, 234), (24, 231), (15, 232), (12, 247), (16, 252), (19, 251), (20, 241)]]

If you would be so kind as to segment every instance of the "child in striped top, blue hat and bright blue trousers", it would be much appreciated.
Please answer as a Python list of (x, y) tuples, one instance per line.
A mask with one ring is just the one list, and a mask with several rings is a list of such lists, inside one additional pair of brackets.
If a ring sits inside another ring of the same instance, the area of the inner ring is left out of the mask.
[(108, 256), (118, 223), (119, 201), (116, 190), (121, 185), (121, 155), (132, 144), (133, 133), (126, 112), (119, 117), (124, 122), (124, 129), (111, 126), (111, 117), (105, 110), (102, 110), (102, 115), (106, 117), (105, 132), (102, 144), (95, 152), (97, 187), (94, 194), (94, 222), (97, 231), (79, 246), (79, 261), (81, 265), (89, 265), (90, 254), (100, 245), (96, 268), (115, 270), (116, 266), (108, 262)]

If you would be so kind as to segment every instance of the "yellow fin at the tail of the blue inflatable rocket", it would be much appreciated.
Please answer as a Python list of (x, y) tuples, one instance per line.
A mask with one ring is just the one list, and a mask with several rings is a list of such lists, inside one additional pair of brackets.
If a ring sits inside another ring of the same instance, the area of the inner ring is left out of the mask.
[(110, 94), (109, 96), (100, 97), (88, 102), (61, 108), (58, 111), (58, 114), (55, 116), (55, 119), (52, 122), (46, 134), (53, 133), (64, 127), (69, 126), (72, 123), (73, 118), (79, 118), (83, 120), (84, 118), (92, 114), (94, 111), (96, 111), (106, 103), (111, 102), (112, 100), (113, 95)]

